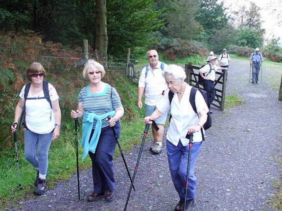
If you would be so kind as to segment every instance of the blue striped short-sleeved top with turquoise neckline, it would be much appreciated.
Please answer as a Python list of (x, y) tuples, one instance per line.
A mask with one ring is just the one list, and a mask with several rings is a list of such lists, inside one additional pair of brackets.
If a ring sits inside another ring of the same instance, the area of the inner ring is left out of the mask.
[[(91, 94), (89, 88), (90, 84), (83, 87), (78, 94), (78, 103), (83, 102), (84, 111), (100, 115), (122, 107), (117, 90), (109, 84), (106, 84), (103, 92), (97, 94)], [(96, 122), (94, 120), (93, 128), (95, 128)], [(109, 123), (106, 118), (102, 120), (102, 127), (107, 126)]]

